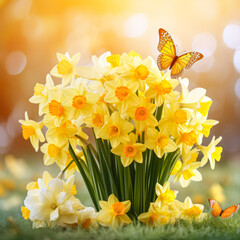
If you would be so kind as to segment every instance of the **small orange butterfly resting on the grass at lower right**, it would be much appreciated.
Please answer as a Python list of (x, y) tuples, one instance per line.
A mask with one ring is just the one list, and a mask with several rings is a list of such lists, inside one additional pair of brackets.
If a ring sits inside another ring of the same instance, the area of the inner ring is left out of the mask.
[(213, 217), (220, 216), (221, 218), (229, 218), (240, 209), (240, 203), (222, 210), (220, 205), (215, 200), (208, 199), (208, 201), (210, 203)]

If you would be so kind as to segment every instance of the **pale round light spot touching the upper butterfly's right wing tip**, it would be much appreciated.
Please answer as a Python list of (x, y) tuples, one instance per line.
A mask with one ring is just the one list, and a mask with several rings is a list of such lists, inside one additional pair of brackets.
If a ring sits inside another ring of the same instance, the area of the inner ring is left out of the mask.
[(192, 49), (210, 57), (213, 55), (217, 47), (215, 37), (210, 33), (200, 33), (195, 36), (192, 43)]

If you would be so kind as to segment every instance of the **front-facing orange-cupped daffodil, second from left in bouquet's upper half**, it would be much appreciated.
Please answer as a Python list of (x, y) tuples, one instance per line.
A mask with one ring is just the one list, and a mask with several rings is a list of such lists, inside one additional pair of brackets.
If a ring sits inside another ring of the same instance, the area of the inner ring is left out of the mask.
[(77, 119), (79, 116), (89, 116), (92, 113), (93, 104), (99, 99), (96, 93), (87, 91), (81, 79), (72, 81), (70, 87), (65, 88), (63, 93), (64, 104), (71, 119)]

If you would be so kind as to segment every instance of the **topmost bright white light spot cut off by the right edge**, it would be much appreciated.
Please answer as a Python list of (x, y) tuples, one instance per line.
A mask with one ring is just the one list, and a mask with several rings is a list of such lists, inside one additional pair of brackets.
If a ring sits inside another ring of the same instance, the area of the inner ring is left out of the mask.
[(223, 31), (223, 41), (229, 48), (240, 46), (240, 24), (228, 24)]

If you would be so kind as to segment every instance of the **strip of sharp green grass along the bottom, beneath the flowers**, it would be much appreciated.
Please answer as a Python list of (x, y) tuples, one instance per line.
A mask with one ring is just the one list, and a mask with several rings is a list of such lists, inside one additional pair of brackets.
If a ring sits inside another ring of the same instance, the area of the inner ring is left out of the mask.
[[(9, 216), (9, 215), (8, 215)], [(208, 217), (203, 222), (177, 222), (156, 228), (141, 224), (129, 225), (122, 229), (99, 227), (96, 230), (82, 229), (32, 229), (29, 221), (24, 221), (16, 211), (12, 212), (15, 224), (6, 221), (7, 215), (1, 215), (0, 233), (2, 240), (14, 239), (240, 239), (240, 215), (229, 219)]]

